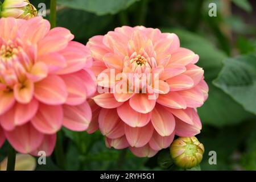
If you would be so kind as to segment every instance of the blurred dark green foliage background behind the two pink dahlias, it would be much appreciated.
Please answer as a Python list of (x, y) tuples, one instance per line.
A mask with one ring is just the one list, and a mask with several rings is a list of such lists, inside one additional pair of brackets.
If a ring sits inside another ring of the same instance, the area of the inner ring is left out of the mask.
[[(49, 9), (49, 0), (30, 2), (36, 8), (46, 3)], [(217, 16), (210, 17), (212, 2)], [(123, 25), (177, 34), (182, 47), (200, 56), (198, 65), (209, 85), (209, 98), (198, 109), (203, 130), (197, 138), (205, 146), (201, 169), (256, 170), (256, 1), (58, 0), (58, 9), (57, 26), (68, 28), (84, 44)], [(62, 133), (70, 170), (159, 170), (169, 160), (168, 150), (148, 159), (106, 148), (99, 131)], [(216, 165), (208, 163), (209, 151), (216, 151)], [(0, 161), (5, 156), (6, 146)], [(59, 169), (55, 155), (37, 169)]]

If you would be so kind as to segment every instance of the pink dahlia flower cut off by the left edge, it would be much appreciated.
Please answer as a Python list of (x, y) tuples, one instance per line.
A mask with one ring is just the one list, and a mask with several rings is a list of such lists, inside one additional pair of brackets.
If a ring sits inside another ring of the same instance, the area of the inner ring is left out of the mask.
[(96, 92), (90, 51), (47, 20), (0, 19), (0, 147), (51, 155), (61, 126), (83, 131)]

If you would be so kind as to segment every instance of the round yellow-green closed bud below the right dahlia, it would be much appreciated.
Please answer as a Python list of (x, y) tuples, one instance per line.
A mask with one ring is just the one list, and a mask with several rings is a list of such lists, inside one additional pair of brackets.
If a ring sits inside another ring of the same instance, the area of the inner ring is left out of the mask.
[(196, 137), (180, 137), (172, 142), (170, 150), (176, 166), (190, 169), (203, 159), (204, 145)]

